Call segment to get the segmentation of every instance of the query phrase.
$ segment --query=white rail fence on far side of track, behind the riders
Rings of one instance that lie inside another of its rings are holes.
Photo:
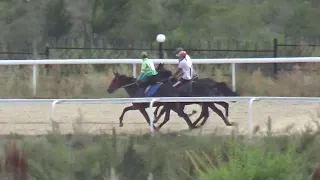
[[[154,63],[177,64],[176,59],[153,59]],[[236,90],[236,64],[244,63],[298,63],[320,62],[320,57],[281,57],[281,58],[222,58],[222,59],[193,59],[194,64],[231,64],[232,88]],[[33,95],[37,94],[37,65],[43,64],[132,64],[133,76],[136,75],[136,65],[140,59],[40,59],[40,60],[3,60],[0,65],[33,65],[32,88]]]

